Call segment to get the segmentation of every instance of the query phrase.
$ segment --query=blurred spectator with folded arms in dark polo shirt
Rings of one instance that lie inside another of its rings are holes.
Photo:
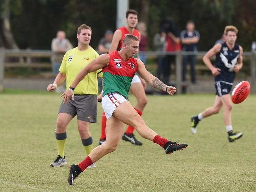
[[[197,53],[197,43],[200,39],[200,34],[195,30],[195,23],[192,20],[187,22],[186,30],[180,34],[182,42],[182,51]],[[186,82],[187,63],[191,66],[191,82],[196,83],[195,64],[197,55],[183,55],[182,81]]]

